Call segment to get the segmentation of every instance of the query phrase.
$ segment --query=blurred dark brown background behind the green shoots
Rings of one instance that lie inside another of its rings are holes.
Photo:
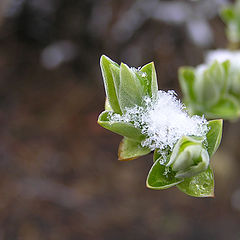
[[[161,89],[227,45],[224,0],[0,0],[0,240],[240,239],[240,122],[224,125],[216,196],[145,187],[96,124],[99,58],[154,61]]]

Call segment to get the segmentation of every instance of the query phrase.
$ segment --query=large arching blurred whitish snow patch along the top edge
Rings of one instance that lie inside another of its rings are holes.
[[[192,42],[197,46],[207,47],[213,42],[213,34],[206,19],[217,16],[219,8],[228,2],[227,0],[136,1],[115,23],[112,35],[118,42],[128,41],[146,20],[154,19],[169,24],[184,24]]]

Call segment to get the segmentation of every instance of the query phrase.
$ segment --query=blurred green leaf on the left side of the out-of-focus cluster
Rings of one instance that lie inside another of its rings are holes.
[[[192,67],[181,67],[178,71],[178,77],[184,97],[187,101],[196,101],[194,93],[195,73]]]

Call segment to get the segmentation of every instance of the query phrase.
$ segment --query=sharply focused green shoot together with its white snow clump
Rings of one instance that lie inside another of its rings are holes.
[[[154,151],[147,187],[177,186],[191,196],[213,196],[209,162],[220,144],[222,121],[191,116],[174,91],[159,91],[153,63],[130,68],[102,56],[100,65],[107,100],[98,123],[123,136],[119,160]]]

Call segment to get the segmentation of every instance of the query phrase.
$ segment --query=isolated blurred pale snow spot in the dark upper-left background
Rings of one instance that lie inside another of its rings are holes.
[[[58,41],[50,44],[41,53],[41,64],[47,69],[54,69],[64,62],[74,59],[77,46],[71,41]]]

